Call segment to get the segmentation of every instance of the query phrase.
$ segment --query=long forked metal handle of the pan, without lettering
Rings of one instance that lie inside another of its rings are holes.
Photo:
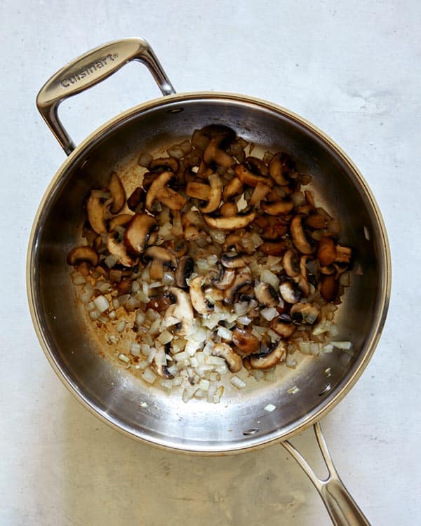
[[[326,467],[328,468],[328,477],[324,480],[316,476],[313,469],[302,454],[295,449],[295,447],[286,440],[282,443],[283,447],[290,453],[294,459],[300,464],[309,479],[319,492],[323,504],[330,515],[330,518],[335,526],[370,526],[370,522],[366,519],[361,509],[357,506],[354,499],[349,494],[347,488],[340,480],[338,472],[335,469],[332,458],[326,445],[321,426],[319,422],[314,424],[314,433],[319,445],[319,449]]]

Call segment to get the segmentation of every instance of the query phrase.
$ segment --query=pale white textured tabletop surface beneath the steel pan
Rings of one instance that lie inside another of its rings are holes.
[[[323,428],[373,525],[420,524],[420,4],[17,0],[0,2],[0,25],[1,526],[329,523],[283,448],[196,458],[139,445],[76,403],[41,352],[25,257],[64,155],[36,93],[74,56],[125,36],[152,43],[178,90],[247,93],[305,116],[366,176],[389,231],[392,302],[373,360]],[[63,104],[62,119],[78,142],[157,94],[129,65]],[[298,440],[314,457],[312,434]]]

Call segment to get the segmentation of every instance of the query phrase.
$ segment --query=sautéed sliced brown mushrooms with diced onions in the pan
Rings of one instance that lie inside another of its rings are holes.
[[[115,356],[185,401],[218,403],[230,373],[236,389],[274,379],[295,351],[350,348],[331,341],[352,256],[338,222],[288,154],[252,150],[210,125],[166,157],[140,154],[131,195],[116,173],[91,190],[86,245],[67,256]]]

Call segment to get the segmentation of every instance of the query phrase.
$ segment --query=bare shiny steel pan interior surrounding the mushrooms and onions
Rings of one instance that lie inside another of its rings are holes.
[[[253,154],[287,151],[320,203],[341,224],[341,242],[356,257],[343,297],[335,339],[354,353],[306,357],[298,367],[277,367],[275,382],[227,384],[219,404],[151,387],[101,356],[103,335],[88,328],[66,264],[81,242],[83,201],[105,186],[112,170],[133,184],[140,151],[182,142],[206,124],[221,123],[255,144]],[[29,289],[35,325],[55,370],[97,414],[134,438],[198,452],[243,450],[286,438],[333,407],[368,362],[384,321],[388,295],[387,245],[377,207],[347,158],[326,137],[286,110],[227,95],[185,95],[142,105],[95,132],[55,176],[34,225]],[[288,390],[300,389],[295,394]],[[267,412],[268,404],[276,406]]]

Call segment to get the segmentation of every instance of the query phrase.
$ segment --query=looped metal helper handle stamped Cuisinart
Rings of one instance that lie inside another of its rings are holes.
[[[67,155],[75,145],[58,118],[60,102],[95,86],[132,60],[149,69],[163,95],[175,93],[149,43],[142,39],[116,40],[92,49],[62,67],[41,88],[36,106]]]

